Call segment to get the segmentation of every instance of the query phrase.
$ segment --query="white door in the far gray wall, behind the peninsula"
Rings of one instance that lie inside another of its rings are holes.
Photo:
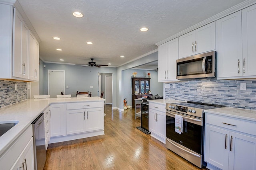
[[[56,98],[56,95],[65,94],[65,71],[64,70],[48,70],[48,95]]]

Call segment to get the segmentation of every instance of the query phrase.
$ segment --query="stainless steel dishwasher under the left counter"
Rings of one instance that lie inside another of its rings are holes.
[[[35,170],[43,170],[46,161],[44,113],[41,113],[33,122],[34,164]]]

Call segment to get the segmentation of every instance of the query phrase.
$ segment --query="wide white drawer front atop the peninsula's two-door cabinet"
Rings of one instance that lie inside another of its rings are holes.
[[[70,109],[86,109],[93,107],[104,107],[104,102],[77,102],[66,104],[67,110]]]

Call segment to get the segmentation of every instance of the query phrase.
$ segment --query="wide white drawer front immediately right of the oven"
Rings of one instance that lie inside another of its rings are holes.
[[[205,113],[206,123],[232,129],[235,131],[256,135],[256,123],[234,117],[215,115],[212,113]]]

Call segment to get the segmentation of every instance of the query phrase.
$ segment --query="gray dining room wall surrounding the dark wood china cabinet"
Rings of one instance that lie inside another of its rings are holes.
[[[153,95],[159,94],[163,96],[163,83],[158,82],[158,72],[156,71],[147,71],[147,70],[138,70],[138,69],[127,69],[123,70],[123,77],[124,77],[124,98],[127,99],[127,104],[132,106],[132,73],[137,72],[136,77],[148,77],[148,72],[151,74],[150,79],[150,90]]]

